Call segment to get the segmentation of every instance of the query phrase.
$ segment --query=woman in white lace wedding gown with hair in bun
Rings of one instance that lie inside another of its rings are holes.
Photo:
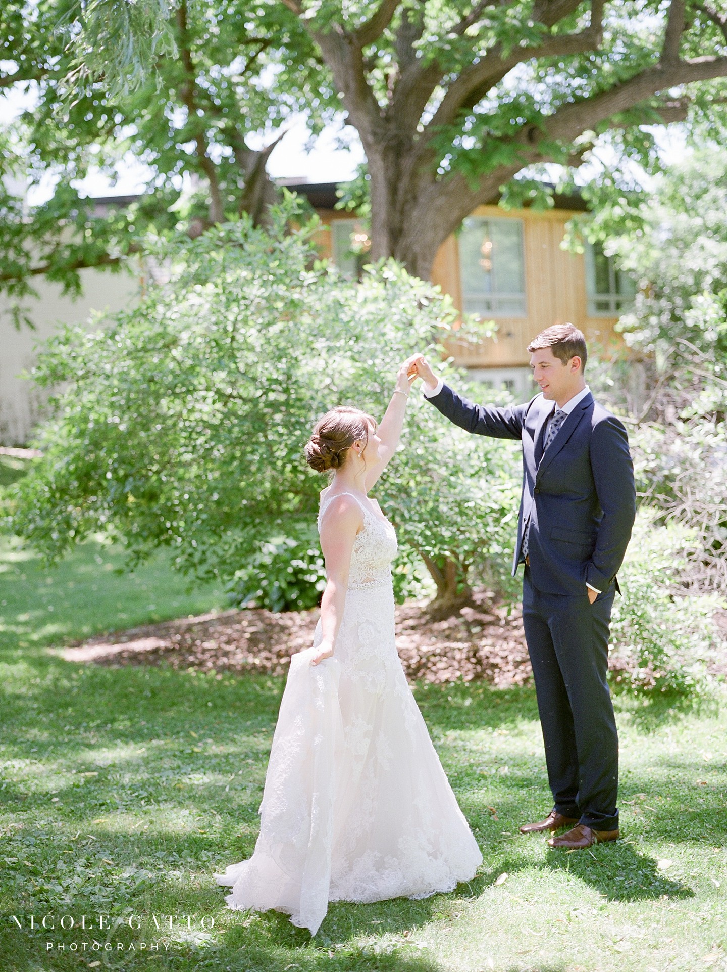
[[[416,377],[402,364],[377,427],[334,408],[306,445],[327,584],[312,647],[290,661],[248,860],[215,874],[237,910],[274,908],[314,935],[329,901],[423,898],[482,861],[394,643],[394,528],[368,493],[399,442]]]

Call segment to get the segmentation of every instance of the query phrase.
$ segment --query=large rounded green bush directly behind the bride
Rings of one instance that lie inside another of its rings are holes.
[[[244,597],[311,601],[318,569],[298,543],[324,485],[302,455],[315,419],[338,404],[380,417],[398,364],[438,357],[455,314],[391,261],[347,280],[316,259],[314,226],[289,231],[294,216],[288,201],[269,230],[243,219],[160,243],[167,279],[137,307],[50,341],[36,379],[66,391],[41,430],[43,459],[15,488],[17,534],[50,557],[97,531],[136,557],[165,545],[180,570]],[[419,394],[404,445],[377,488],[400,530],[397,583],[421,556],[440,573],[453,564],[464,587],[488,558],[507,559],[516,450],[454,430]]]

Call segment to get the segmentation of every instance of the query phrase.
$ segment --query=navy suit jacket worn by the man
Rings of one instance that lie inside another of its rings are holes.
[[[445,385],[429,401],[467,432],[522,442],[522,499],[512,574],[522,562],[522,530],[529,518],[530,573],[538,590],[583,595],[587,582],[607,591],[623,562],[636,516],[634,467],[623,424],[588,394],[544,454],[545,421],[555,403],[542,395],[496,408],[474,404]]]

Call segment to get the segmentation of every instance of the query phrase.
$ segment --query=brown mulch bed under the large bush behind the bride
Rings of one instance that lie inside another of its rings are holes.
[[[68,661],[99,665],[171,665],[204,672],[281,675],[290,655],[313,642],[318,611],[252,608],[149,624],[59,649]],[[532,671],[519,609],[479,600],[445,620],[425,604],[396,609],[396,644],[411,681],[522,685]]]

